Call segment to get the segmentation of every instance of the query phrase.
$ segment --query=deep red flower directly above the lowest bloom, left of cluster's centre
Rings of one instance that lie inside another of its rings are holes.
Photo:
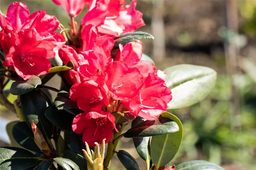
[[[108,105],[107,96],[93,80],[74,84],[70,89],[69,98],[85,112],[99,111],[103,104]]]

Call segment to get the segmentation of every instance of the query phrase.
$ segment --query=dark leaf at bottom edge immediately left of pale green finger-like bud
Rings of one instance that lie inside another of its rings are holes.
[[[87,170],[87,160],[85,157],[69,150],[65,150],[64,157],[75,162],[79,166],[80,170]]]

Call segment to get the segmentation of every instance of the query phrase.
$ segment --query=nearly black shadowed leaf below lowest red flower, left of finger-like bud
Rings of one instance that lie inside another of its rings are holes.
[[[83,155],[83,151],[82,149],[86,149],[85,148],[85,144],[82,141],[82,135],[81,134],[76,134],[73,133],[70,136],[70,150],[72,152],[78,153],[79,155]]]

